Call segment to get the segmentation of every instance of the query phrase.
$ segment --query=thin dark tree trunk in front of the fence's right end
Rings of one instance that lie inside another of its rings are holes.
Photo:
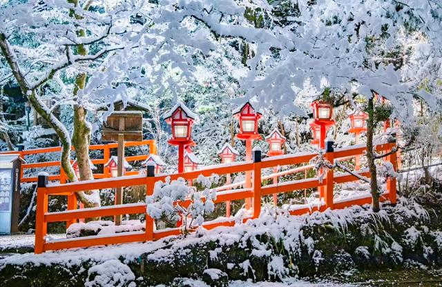
[[[367,161],[370,172],[370,191],[372,193],[372,209],[374,212],[380,210],[379,207],[379,193],[378,193],[378,181],[376,177],[376,164],[374,163],[374,152],[373,152],[373,135],[374,135],[374,96],[368,100],[367,106]]]

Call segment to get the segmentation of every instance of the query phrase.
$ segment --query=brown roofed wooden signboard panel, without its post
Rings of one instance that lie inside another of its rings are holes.
[[[102,141],[118,141],[118,135],[124,135],[124,141],[143,140],[143,114],[140,111],[119,111],[108,116],[103,125]]]

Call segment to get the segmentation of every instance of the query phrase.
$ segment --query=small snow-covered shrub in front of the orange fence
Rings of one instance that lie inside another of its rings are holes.
[[[205,179],[200,179],[200,182],[207,184]],[[153,195],[146,197],[146,212],[153,219],[173,222],[183,219],[182,226],[186,230],[204,222],[204,215],[215,209],[215,199],[215,190],[204,188],[198,192],[195,188],[187,186],[182,177],[173,181],[166,177],[165,182],[157,181]]]

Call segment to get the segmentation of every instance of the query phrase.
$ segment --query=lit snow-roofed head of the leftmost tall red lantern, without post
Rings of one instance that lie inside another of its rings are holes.
[[[192,125],[198,123],[198,116],[191,112],[184,103],[178,101],[163,117],[164,121],[172,126],[172,139],[169,143],[191,141]]]

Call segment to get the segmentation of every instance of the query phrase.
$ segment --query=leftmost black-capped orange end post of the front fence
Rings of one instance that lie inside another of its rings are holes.
[[[36,254],[44,251],[44,237],[48,233],[48,224],[44,220],[44,215],[48,212],[48,195],[46,195],[46,186],[49,177],[47,175],[39,175],[37,181],[37,210],[35,212],[35,247]]]

